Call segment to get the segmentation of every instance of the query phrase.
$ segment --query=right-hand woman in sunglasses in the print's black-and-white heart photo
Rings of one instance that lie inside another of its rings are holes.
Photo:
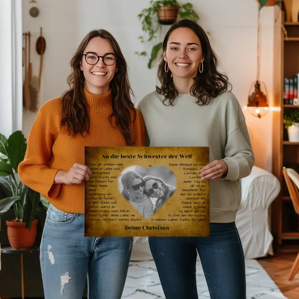
[[[154,176],[145,176],[144,192],[150,197],[157,198],[155,204],[155,212],[159,210],[161,206],[171,197],[175,191],[175,188],[166,184],[160,178]]]

